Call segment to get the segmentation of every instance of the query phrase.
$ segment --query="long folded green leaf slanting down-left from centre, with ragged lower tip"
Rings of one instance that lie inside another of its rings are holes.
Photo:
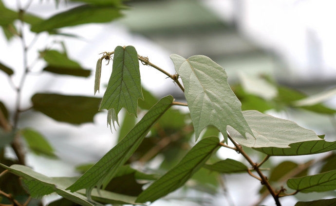
[[[68,189],[71,191],[87,189],[87,196],[90,197],[90,192],[95,186],[98,189],[102,185],[105,187],[118,169],[138,148],[153,124],[168,110],[172,101],[173,97],[167,96],[156,103],[112,150],[105,154]]]

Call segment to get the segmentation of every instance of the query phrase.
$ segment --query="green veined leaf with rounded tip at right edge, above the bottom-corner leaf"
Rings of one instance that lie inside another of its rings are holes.
[[[287,186],[299,192],[323,192],[336,189],[336,170],[320,174],[292,178]]]

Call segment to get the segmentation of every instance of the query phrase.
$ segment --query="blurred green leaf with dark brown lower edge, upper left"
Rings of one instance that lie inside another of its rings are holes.
[[[65,52],[56,50],[41,51],[40,55],[48,63],[43,69],[56,74],[66,74],[73,76],[88,77],[91,70],[83,69],[77,62],[69,59]]]

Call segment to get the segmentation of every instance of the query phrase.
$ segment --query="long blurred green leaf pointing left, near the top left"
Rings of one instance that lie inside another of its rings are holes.
[[[118,6],[85,4],[58,13],[37,24],[32,24],[31,31],[40,33],[80,24],[103,23],[112,21],[118,17],[121,17]]]

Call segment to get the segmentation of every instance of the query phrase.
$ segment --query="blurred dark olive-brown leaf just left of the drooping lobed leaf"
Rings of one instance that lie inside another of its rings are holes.
[[[38,93],[32,97],[33,108],[57,121],[73,124],[93,122],[100,98]]]

